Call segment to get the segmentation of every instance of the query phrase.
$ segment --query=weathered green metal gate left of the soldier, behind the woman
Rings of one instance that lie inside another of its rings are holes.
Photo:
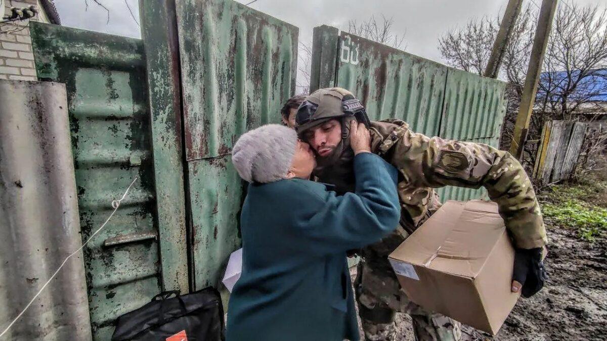
[[[231,0],[140,10],[143,41],[31,24],[38,78],[66,84],[83,241],[139,178],[84,249],[95,340],[161,290],[222,288],[244,191],[232,144],[295,89],[297,27]]]

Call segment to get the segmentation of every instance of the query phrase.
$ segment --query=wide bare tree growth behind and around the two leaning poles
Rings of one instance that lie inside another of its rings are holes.
[[[508,82],[508,106],[502,131],[502,149],[512,141],[512,128],[523,93],[537,21],[531,4],[521,12],[504,53],[500,78]],[[473,18],[463,27],[450,30],[438,41],[441,55],[451,66],[482,74],[500,26],[498,18]],[[595,98],[607,92],[607,15],[596,6],[561,2],[552,24],[544,55],[529,140],[524,158],[532,164],[533,141],[540,138],[545,120],[592,120],[586,112],[597,110]],[[604,104],[602,104],[604,106]],[[602,108],[605,111],[605,107]]]

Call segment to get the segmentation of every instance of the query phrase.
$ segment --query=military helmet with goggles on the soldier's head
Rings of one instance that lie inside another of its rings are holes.
[[[370,124],[365,107],[353,93],[341,87],[316,90],[307,96],[297,109],[297,133],[301,135],[305,130],[325,121],[342,117],[356,118],[367,127]]]

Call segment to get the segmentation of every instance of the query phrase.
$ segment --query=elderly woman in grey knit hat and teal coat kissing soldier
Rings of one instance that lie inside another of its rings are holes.
[[[228,341],[359,340],[346,251],[398,225],[396,169],[350,127],[356,192],[308,180],[316,164],[296,132],[269,124],[245,133],[232,161],[251,183],[242,208],[243,267],[228,309]]]

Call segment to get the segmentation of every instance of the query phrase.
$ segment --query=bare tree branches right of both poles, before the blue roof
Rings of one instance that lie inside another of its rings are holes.
[[[573,120],[597,109],[592,98],[607,92],[607,12],[576,4],[558,11],[538,86],[541,110]],[[588,107],[588,105],[592,107]]]

